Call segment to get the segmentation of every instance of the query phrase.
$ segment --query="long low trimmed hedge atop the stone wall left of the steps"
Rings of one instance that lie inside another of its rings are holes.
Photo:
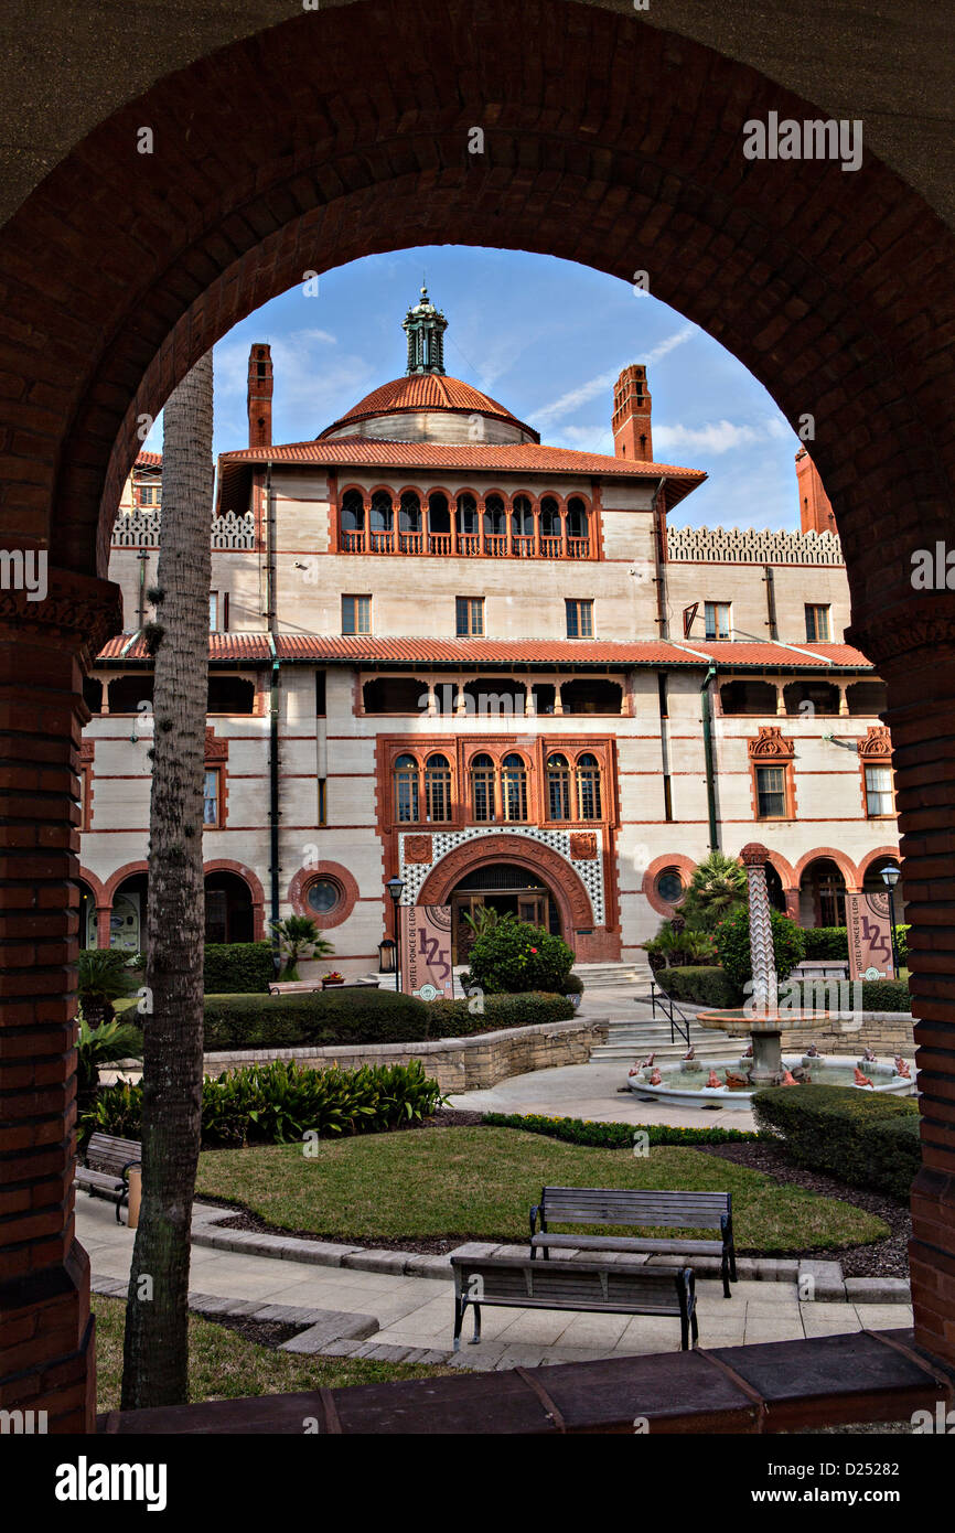
[[[472,996],[471,1001],[422,1001],[417,995],[372,986],[297,995],[207,995],[205,1049],[423,1042],[498,1027],[558,1023],[575,1015],[563,995],[537,992]]]

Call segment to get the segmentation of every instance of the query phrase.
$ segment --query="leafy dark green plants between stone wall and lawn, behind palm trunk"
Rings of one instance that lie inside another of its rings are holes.
[[[302,1070],[276,1061],[202,1082],[202,1145],[287,1144],[307,1133],[382,1133],[420,1122],[443,1101],[420,1059],[360,1070]],[[110,1085],[83,1121],[90,1133],[138,1139],[143,1087]]]

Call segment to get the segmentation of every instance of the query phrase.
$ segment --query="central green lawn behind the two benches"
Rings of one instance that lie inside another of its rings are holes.
[[[317,1148],[314,1159],[300,1144],[205,1151],[196,1193],[241,1202],[287,1229],[395,1246],[426,1236],[526,1240],[527,1210],[544,1183],[731,1191],[739,1249],[863,1245],[889,1233],[852,1203],[682,1147],[638,1159],[628,1148],[475,1127],[323,1139]]]

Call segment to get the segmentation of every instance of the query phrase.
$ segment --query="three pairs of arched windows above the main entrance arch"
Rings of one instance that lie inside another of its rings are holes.
[[[468,770],[471,819],[478,823],[526,822],[527,762],[510,751],[500,765],[487,751],[471,757]],[[399,825],[440,825],[452,819],[451,762],[440,751],[420,760],[411,753],[394,762],[394,817]],[[544,771],[544,814],[549,820],[599,820],[601,766],[592,751],[570,763],[553,751]]]

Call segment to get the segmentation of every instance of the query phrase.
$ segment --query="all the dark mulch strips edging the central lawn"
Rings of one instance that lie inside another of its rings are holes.
[[[477,1125],[481,1122],[481,1113],[440,1108],[434,1118],[428,1118],[420,1124],[408,1124],[408,1127],[460,1128]],[[802,1167],[793,1165],[779,1145],[766,1144],[763,1141],[730,1145],[694,1145],[693,1148],[702,1150],[704,1154],[720,1156],[724,1160],[736,1160],[737,1165],[750,1167],[753,1171],[763,1171],[777,1182],[789,1182],[793,1187],[805,1187],[806,1191],[817,1193],[820,1197],[838,1197],[846,1203],[854,1203],[857,1208],[865,1208],[866,1213],[883,1219],[892,1231],[892,1234],[884,1240],[877,1240],[872,1245],[842,1246],[835,1249],[825,1246],[802,1246],[786,1251],[773,1251],[771,1254],[774,1257],[812,1257],[817,1262],[842,1262],[845,1277],[909,1277],[912,1216],[907,1203],[900,1203],[894,1197],[886,1197],[884,1193],[869,1193],[860,1187],[848,1187],[845,1182],[837,1180],[837,1177],[826,1176],[822,1171],[806,1171]],[[219,1208],[236,1208],[235,1202],[224,1197],[207,1197],[202,1194],[201,1202],[215,1203]],[[514,1243],[512,1236],[504,1234],[461,1234],[443,1239],[428,1236],[418,1240],[405,1236],[400,1239],[392,1236],[385,1240],[372,1236],[363,1236],[360,1240],[353,1242],[342,1240],[339,1234],[317,1234],[314,1229],[290,1229],[287,1226],[281,1228],[279,1225],[270,1225],[267,1219],[261,1219],[259,1214],[253,1214],[247,1208],[241,1208],[231,1219],[222,1220],[222,1223],[216,1228],[250,1229],[256,1234],[270,1236],[294,1236],[299,1240],[322,1240],[331,1245],[360,1245],[369,1251],[412,1251],[418,1256],[443,1256],[446,1251],[454,1251],[455,1246],[463,1245],[464,1240],[497,1242],[500,1245]],[[765,1251],[753,1251],[743,1246],[739,1248],[737,1254],[766,1256]]]

